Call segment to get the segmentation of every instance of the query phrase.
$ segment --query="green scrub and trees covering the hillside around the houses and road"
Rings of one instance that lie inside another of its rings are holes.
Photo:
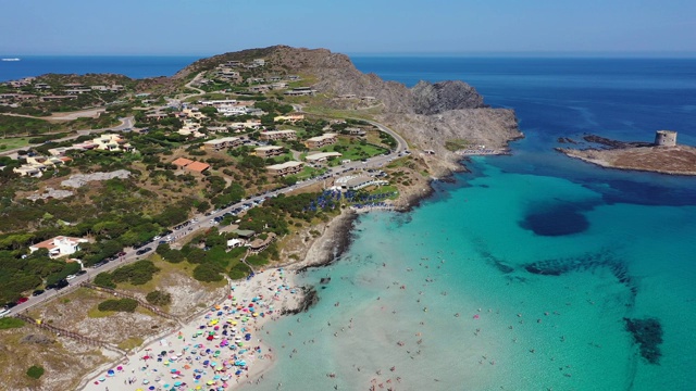
[[[249,52],[248,60],[263,58],[263,52]],[[229,60],[237,59],[231,56]],[[203,70],[212,71],[216,64],[201,61],[195,73],[187,76],[187,80]],[[198,66],[196,65],[196,66]],[[204,65],[204,66],[203,66]],[[268,77],[273,74],[284,75],[285,71],[273,67],[238,68],[240,77]],[[328,162],[337,165],[340,160],[362,160],[387,151],[396,144],[390,136],[375,131],[374,126],[362,119],[370,118],[380,112],[380,108],[363,111],[336,111],[322,106],[326,96],[315,97],[284,97],[282,90],[269,93],[249,93],[246,83],[222,80],[212,73],[203,75],[213,83],[202,86],[204,96],[191,97],[190,100],[201,99],[237,99],[251,101],[254,108],[263,110],[266,115],[261,119],[266,129],[295,129],[298,140],[272,141],[271,144],[283,146],[287,150],[282,156],[261,159],[253,154],[252,147],[231,148],[227,151],[202,150],[201,139],[192,136],[179,135],[184,126],[181,115],[173,115],[176,110],[156,110],[147,108],[142,97],[134,99],[130,92],[142,91],[146,88],[140,81],[113,76],[58,76],[41,77],[40,83],[47,83],[49,91],[34,90],[30,86],[25,92],[44,96],[58,93],[64,89],[66,83],[82,83],[88,85],[120,84],[125,86],[125,92],[90,91],[78,96],[74,100],[38,102],[32,101],[22,108],[14,108],[15,113],[28,115],[49,115],[52,112],[66,112],[95,106],[108,108],[98,118],[79,118],[76,121],[48,122],[40,117],[20,117],[0,115],[0,149],[23,148],[37,144],[20,152],[28,156],[32,153],[47,155],[51,148],[70,147],[75,142],[89,141],[95,136],[79,136],[69,141],[57,141],[69,136],[65,130],[103,128],[116,123],[120,116],[133,115],[136,127],[147,127],[147,133],[123,133],[122,138],[135,148],[135,152],[109,152],[98,150],[70,150],[66,155],[72,161],[54,171],[47,171],[41,178],[18,177],[12,168],[21,163],[8,157],[0,157],[0,304],[16,301],[21,294],[47,283],[55,282],[69,274],[76,272],[76,264],[64,261],[50,260],[45,251],[28,254],[27,248],[39,241],[63,235],[70,237],[89,238],[89,243],[83,243],[80,251],[73,257],[80,258],[90,266],[105,258],[117,256],[124,248],[145,244],[191,217],[192,213],[204,213],[215,207],[223,207],[236,203],[251,194],[259,194],[281,186],[293,185],[326,172],[325,167],[307,166],[297,175],[276,178],[266,173],[266,166],[294,159],[297,152],[307,152],[303,144],[306,138],[322,135],[330,126],[330,118],[345,117],[345,124],[332,124],[333,131],[341,133],[339,141],[321,151],[336,151],[343,157]],[[301,81],[293,81],[289,88],[310,86],[315,79],[310,75],[302,75]],[[107,79],[109,80],[107,83]],[[146,83],[146,81],[142,81]],[[163,97],[186,90],[178,86],[158,86],[152,80],[147,81],[148,92],[158,90],[148,101],[164,103]],[[51,90],[55,90],[52,91]],[[127,93],[126,93],[127,92]],[[274,123],[274,116],[293,112],[290,103],[307,104],[308,112],[320,115],[307,115],[306,119],[297,123]],[[109,103],[109,104],[107,104]],[[134,109],[137,108],[137,109]],[[7,112],[4,108],[0,113]],[[192,119],[200,125],[201,131],[207,133],[212,127],[229,126],[231,122],[256,119],[251,115],[224,117],[214,108],[200,108],[207,118]],[[149,115],[158,113],[158,115]],[[169,115],[167,114],[172,114]],[[360,127],[368,131],[364,139],[347,135],[347,127]],[[259,130],[243,130],[250,139],[258,140]],[[11,137],[14,135],[28,135]],[[239,136],[237,133],[210,134],[211,137]],[[386,147],[386,148],[385,148]],[[316,152],[316,151],[312,151]],[[186,157],[210,164],[211,169],[204,174],[182,169],[172,164],[177,157]],[[29,201],[27,194],[41,193],[47,186],[55,186],[57,178],[72,173],[96,173],[126,169],[132,175],[127,179],[111,179],[89,182],[88,186],[74,190],[74,194],[62,200],[48,199]],[[270,199],[262,207],[247,211],[239,223],[240,229],[251,229],[258,234],[257,238],[264,239],[268,234],[284,236],[291,234],[295,227],[311,224],[318,219],[326,220],[333,213],[337,213],[339,205],[328,203],[318,209],[314,201],[318,194],[299,194]],[[237,216],[227,216],[222,225],[231,224]],[[182,250],[159,245],[157,253],[171,264],[181,264],[183,269],[207,282],[220,282],[224,276],[244,278],[251,268],[249,265],[262,266],[279,258],[277,243],[272,242],[259,254],[252,254],[241,262],[246,249],[228,251],[226,240],[235,238],[234,234],[220,235],[216,229],[210,229],[199,236]],[[190,267],[189,267],[190,264]],[[173,265],[166,265],[173,266]],[[101,273],[95,278],[95,285],[115,288],[121,285],[139,286],[145,293],[149,292],[150,302],[167,305],[166,293],[152,291],[154,283],[147,283],[153,278],[158,268],[149,261],[139,261],[123,266],[112,273]],[[214,285],[214,283],[213,283]],[[112,311],[112,310],[108,310]],[[103,315],[103,312],[92,311]]]

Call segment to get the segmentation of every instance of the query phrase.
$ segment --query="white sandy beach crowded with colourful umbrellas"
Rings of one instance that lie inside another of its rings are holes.
[[[234,282],[223,302],[110,369],[90,374],[84,390],[229,390],[251,381],[274,360],[263,344],[263,324],[301,301],[293,273],[275,268]]]

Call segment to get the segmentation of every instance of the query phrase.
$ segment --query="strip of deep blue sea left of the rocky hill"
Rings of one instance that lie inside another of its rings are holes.
[[[15,58],[0,55],[0,58]],[[191,55],[24,55],[21,61],[0,61],[0,81],[47,73],[113,73],[130,78],[172,76],[201,56]]]

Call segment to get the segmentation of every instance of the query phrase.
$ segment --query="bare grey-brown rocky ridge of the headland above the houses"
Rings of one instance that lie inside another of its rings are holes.
[[[186,78],[225,61],[256,58],[265,59],[271,73],[311,75],[316,80],[314,89],[333,109],[349,108],[349,101],[335,99],[341,94],[375,98],[373,105],[380,114],[374,119],[400,133],[412,147],[435,152],[425,156],[434,175],[461,168],[457,164],[461,156],[445,148],[447,141],[505,149],[510,140],[522,137],[512,110],[490,109],[463,81],[421,81],[409,89],[375,74],[364,74],[347,55],[326,49],[276,46],[226,53],[197,61],[174,77]]]

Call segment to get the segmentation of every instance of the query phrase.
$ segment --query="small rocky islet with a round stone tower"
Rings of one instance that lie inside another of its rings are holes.
[[[602,167],[634,169],[671,175],[696,175],[696,148],[676,143],[676,131],[658,130],[655,142],[624,142],[587,135],[587,142],[601,148],[556,150],[570,157]],[[561,139],[561,142],[573,142]]]

